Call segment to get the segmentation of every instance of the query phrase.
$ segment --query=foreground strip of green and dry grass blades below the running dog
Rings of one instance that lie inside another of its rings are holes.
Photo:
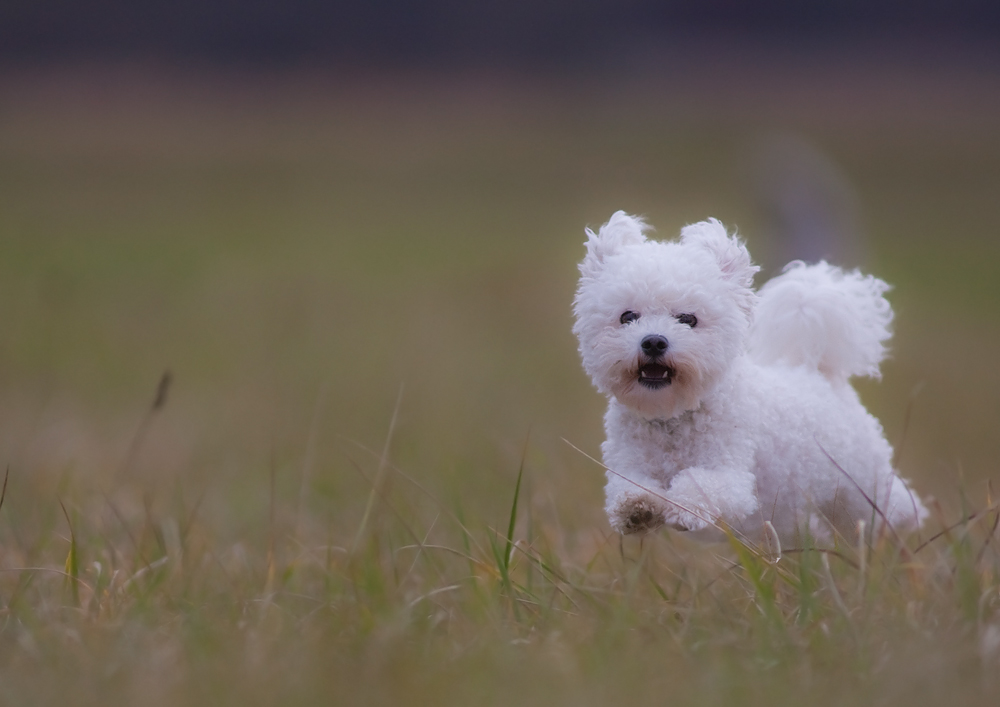
[[[521,497],[521,474],[495,527],[359,452],[375,501],[353,540],[273,495],[265,536],[232,545],[180,496],[134,518],[116,494],[78,493],[76,513],[33,509],[35,524],[5,544],[5,701],[988,704],[995,694],[995,504],[908,549],[842,539],[778,555],[735,539],[728,549],[667,534],[622,541],[600,527],[567,537],[549,508]]]

